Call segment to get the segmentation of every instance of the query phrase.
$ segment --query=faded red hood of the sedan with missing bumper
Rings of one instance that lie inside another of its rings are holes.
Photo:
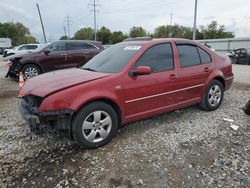
[[[80,68],[58,70],[26,80],[22,87],[22,93],[24,95],[46,97],[63,89],[109,75],[108,73],[87,71]]]

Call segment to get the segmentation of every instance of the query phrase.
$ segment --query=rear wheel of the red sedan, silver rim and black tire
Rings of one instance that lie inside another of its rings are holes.
[[[216,92],[217,89],[218,92]],[[210,91],[212,92],[212,94],[214,94],[214,96],[210,94]],[[218,98],[219,92],[220,92],[220,99]],[[221,105],[223,97],[224,97],[224,88],[222,83],[218,80],[212,80],[209,83],[205,93],[203,94],[202,102],[199,104],[199,106],[206,111],[216,110]]]

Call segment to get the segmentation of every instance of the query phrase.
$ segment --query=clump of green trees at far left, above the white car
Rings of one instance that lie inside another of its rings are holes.
[[[30,35],[29,28],[20,22],[0,23],[0,38],[10,38],[13,46],[36,43],[36,38]]]

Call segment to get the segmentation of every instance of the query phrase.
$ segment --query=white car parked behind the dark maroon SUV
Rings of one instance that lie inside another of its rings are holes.
[[[7,57],[10,55],[14,55],[14,54],[24,54],[24,53],[33,52],[39,46],[41,46],[41,44],[22,44],[12,49],[4,50],[3,57]]]

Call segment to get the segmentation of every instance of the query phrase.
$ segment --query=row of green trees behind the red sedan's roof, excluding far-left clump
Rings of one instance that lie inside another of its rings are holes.
[[[152,37],[152,38],[186,38],[192,39],[193,29],[191,27],[185,27],[182,25],[175,24],[162,25],[154,29],[154,33],[147,32],[140,26],[133,26],[129,33],[123,33],[122,31],[114,31],[105,26],[101,27],[97,32],[97,40],[103,44],[115,44],[123,41],[126,38],[134,37]],[[200,26],[196,31],[196,39],[218,39],[218,38],[233,38],[234,33],[226,31],[224,25],[219,25],[217,21],[212,21],[207,26]],[[68,39],[67,36],[62,36],[61,40]],[[93,40],[94,29],[91,27],[84,27],[78,30],[72,39],[78,40]]]

